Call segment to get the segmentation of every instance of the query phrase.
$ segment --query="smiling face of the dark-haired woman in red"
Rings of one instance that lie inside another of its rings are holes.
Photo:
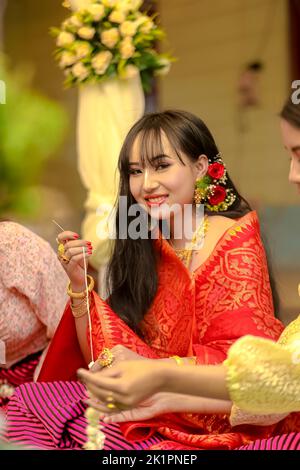
[[[154,218],[165,219],[175,204],[183,208],[193,203],[195,182],[206,174],[208,160],[201,155],[192,161],[176,151],[163,132],[160,140],[152,143],[152,155],[142,158],[143,145],[137,136],[129,158],[129,185],[138,204]]]

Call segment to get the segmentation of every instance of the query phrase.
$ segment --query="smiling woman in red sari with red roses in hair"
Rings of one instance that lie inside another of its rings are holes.
[[[82,446],[85,388],[65,381],[74,380],[76,370],[87,367],[93,357],[100,356],[103,364],[103,348],[114,348],[112,366],[132,359],[174,362],[179,358],[186,363],[217,364],[241,336],[277,339],[282,331],[273,314],[256,213],[237,192],[200,119],[176,111],[144,116],[125,139],[119,170],[119,195],[127,198],[129,208],[138,203],[146,214],[151,212],[161,231],[148,232],[146,224],[146,234],[156,233],[158,238],[128,236],[134,222],[129,216],[124,237],[119,232],[124,214],[118,205],[117,236],[108,269],[110,296],[105,302],[92,292],[85,303],[87,244],[73,232],[59,235],[71,304],[39,376],[40,382],[48,383],[21,386],[11,400],[8,417],[13,441],[44,448]],[[193,250],[186,250],[188,238],[176,237],[181,219],[175,214],[168,219],[169,209],[192,206],[195,227],[195,203],[205,206],[205,218],[195,231],[202,239],[205,236],[204,244],[201,249],[193,245]],[[164,221],[169,239],[163,236]],[[206,449],[234,448],[255,435],[269,435],[269,428],[233,431],[223,405],[216,403],[214,409],[222,414],[166,414],[125,423],[118,436],[117,428],[113,429],[114,441],[108,426],[106,448],[151,448],[153,439]]]

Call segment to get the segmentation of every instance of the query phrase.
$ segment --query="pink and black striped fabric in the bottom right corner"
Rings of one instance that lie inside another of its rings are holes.
[[[300,433],[291,432],[269,439],[259,439],[238,450],[300,450]]]

